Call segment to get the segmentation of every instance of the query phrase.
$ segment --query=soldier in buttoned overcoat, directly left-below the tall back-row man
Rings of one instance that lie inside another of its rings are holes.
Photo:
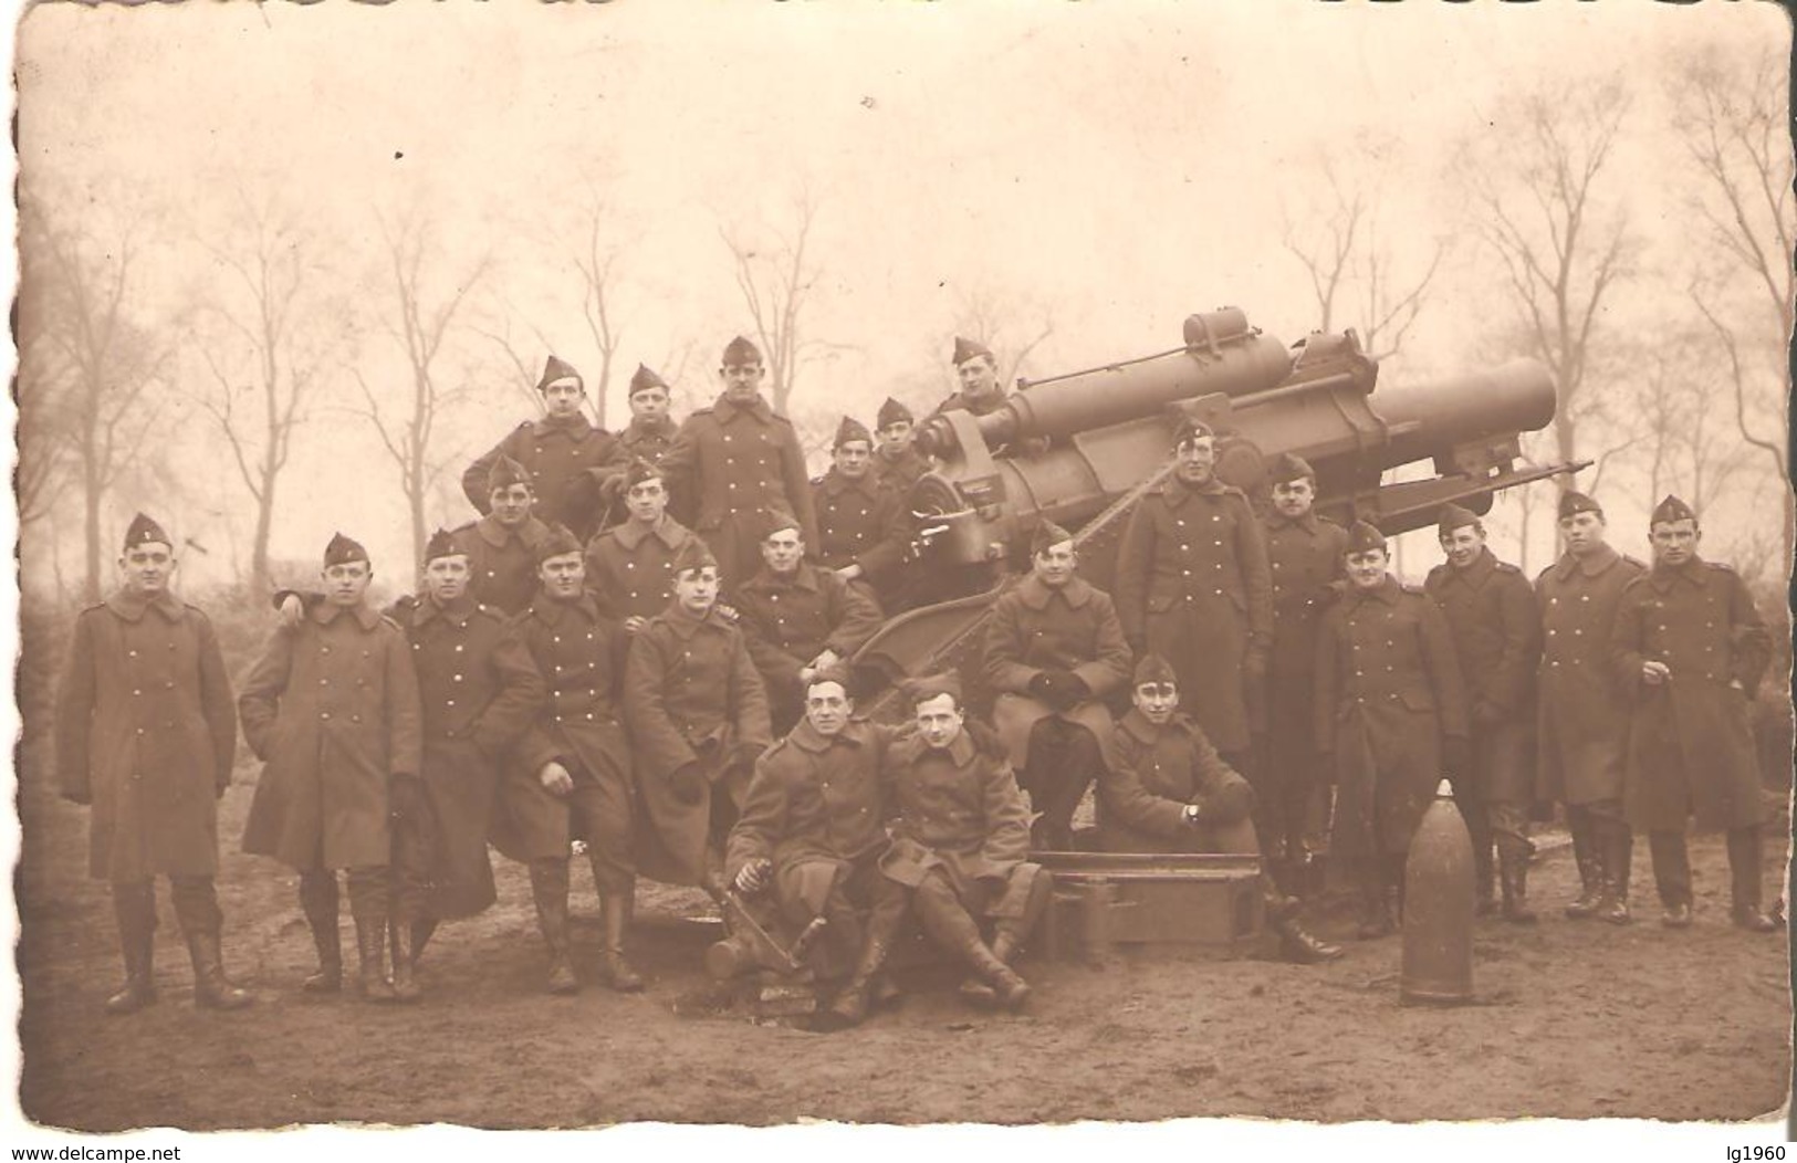
[[[634,635],[674,600],[674,557],[694,534],[668,516],[661,469],[647,460],[631,464],[620,500],[624,521],[586,543],[586,590]]]

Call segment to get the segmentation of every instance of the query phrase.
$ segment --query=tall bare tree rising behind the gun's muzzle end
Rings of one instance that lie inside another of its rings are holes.
[[[1504,271],[1529,354],[1554,379],[1562,462],[1578,457],[1580,426],[1598,413],[1589,385],[1599,320],[1633,255],[1626,216],[1605,198],[1626,113],[1619,77],[1544,84],[1481,126],[1461,156],[1477,230]]]

